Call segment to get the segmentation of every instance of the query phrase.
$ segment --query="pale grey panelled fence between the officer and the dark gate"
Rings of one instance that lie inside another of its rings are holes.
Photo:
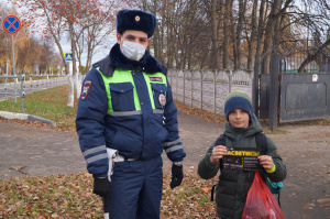
[[[231,90],[252,97],[252,76],[245,70],[168,70],[175,100],[217,114],[224,114],[224,98]]]

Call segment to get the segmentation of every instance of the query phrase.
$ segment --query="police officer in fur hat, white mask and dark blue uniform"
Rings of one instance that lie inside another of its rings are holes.
[[[160,218],[163,150],[173,162],[170,187],[183,180],[186,154],[166,68],[146,51],[156,23],[145,11],[119,11],[118,43],[82,83],[79,144],[94,193],[109,199],[111,219]]]

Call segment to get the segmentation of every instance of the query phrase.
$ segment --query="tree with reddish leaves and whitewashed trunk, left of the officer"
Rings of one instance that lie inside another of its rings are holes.
[[[53,37],[61,54],[64,54],[61,40],[67,36],[73,53],[73,76],[76,74],[76,53],[77,39],[80,32],[77,32],[76,26],[91,25],[90,20],[102,20],[99,17],[103,15],[103,10],[111,11],[124,6],[127,1],[113,1],[116,4],[110,4],[111,1],[101,0],[13,0],[14,3],[24,9],[23,18],[33,28],[37,28],[44,33],[45,37]],[[84,29],[84,28],[82,28]],[[68,66],[64,56],[62,62],[65,66],[66,73],[69,73]],[[74,107],[74,81],[69,77],[69,95],[68,107]],[[78,84],[78,83],[77,83]],[[77,90],[77,92],[79,92]]]

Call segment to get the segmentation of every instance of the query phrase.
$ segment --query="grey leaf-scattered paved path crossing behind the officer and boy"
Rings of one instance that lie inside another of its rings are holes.
[[[207,147],[223,132],[223,124],[179,113],[179,131],[187,157],[185,171],[197,171]],[[330,218],[330,125],[280,125],[287,134],[272,134],[287,166],[280,196],[287,219]],[[78,138],[66,132],[0,122],[0,178],[68,174],[86,171]],[[164,157],[164,172],[170,163]]]

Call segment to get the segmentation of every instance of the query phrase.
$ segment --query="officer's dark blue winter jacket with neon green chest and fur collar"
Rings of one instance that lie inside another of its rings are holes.
[[[133,83],[123,78],[123,83],[105,85],[105,78],[111,81],[111,77],[121,78],[116,74],[123,73]],[[172,162],[186,156],[167,78],[164,77],[166,86],[151,83],[160,80],[153,77],[160,73],[166,76],[166,68],[147,51],[140,62],[130,61],[116,44],[110,55],[95,64],[86,76],[76,128],[87,169],[95,177],[107,176],[106,147],[118,150],[125,158],[150,160],[160,156],[163,150]],[[152,96],[147,87],[152,87]],[[133,97],[133,92],[138,95]]]

